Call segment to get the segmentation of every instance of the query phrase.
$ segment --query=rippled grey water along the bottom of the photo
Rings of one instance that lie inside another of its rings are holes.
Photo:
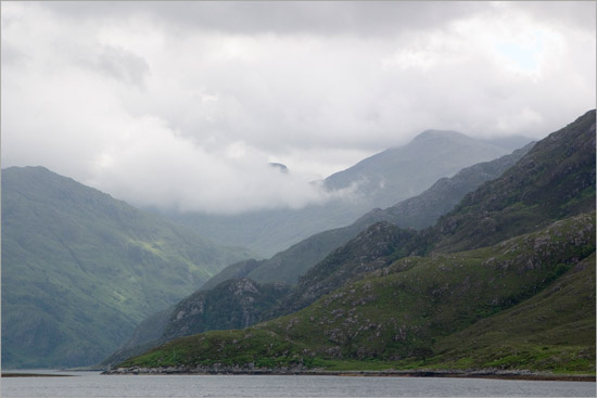
[[[595,397],[590,382],[270,375],[3,377],[2,397]]]

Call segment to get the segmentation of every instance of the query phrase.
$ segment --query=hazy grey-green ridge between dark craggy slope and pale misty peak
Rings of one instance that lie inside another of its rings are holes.
[[[386,209],[374,209],[348,227],[323,231],[303,240],[267,260],[234,264],[207,281],[203,288],[212,288],[230,278],[251,278],[258,282],[282,281],[294,284],[298,278],[321,261],[334,248],[354,239],[369,226],[388,221],[401,228],[421,229],[433,224],[440,216],[452,210],[469,192],[483,182],[493,180],[513,166],[533,146],[515,151],[495,161],[480,163],[458,171],[454,177],[436,181],[420,195],[410,197]]]

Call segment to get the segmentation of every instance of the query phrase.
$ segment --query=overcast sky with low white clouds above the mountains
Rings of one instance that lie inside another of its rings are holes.
[[[138,206],[300,208],[427,129],[558,130],[595,107],[596,57],[595,2],[3,1],[1,163]]]

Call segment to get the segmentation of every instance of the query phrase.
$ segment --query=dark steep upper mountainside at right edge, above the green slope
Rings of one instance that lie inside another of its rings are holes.
[[[482,247],[595,208],[595,110],[549,134],[423,234],[433,251]],[[420,248],[419,248],[420,252]]]

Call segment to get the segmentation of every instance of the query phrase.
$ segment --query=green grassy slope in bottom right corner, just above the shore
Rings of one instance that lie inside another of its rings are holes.
[[[595,253],[536,296],[439,341],[429,365],[595,369]]]

